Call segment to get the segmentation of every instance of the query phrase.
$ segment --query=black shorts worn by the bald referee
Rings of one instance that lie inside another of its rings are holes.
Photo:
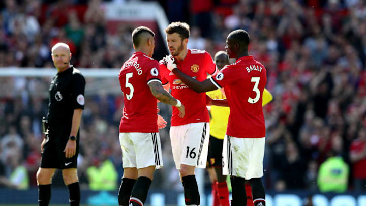
[[[70,129],[50,128],[48,136],[49,140],[43,147],[41,168],[76,168],[79,154],[79,133],[76,140],[76,153],[72,158],[66,158],[64,152],[69,140]]]

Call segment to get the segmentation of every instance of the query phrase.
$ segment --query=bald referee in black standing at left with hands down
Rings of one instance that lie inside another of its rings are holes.
[[[52,61],[57,69],[49,87],[47,114],[48,135],[41,144],[41,167],[37,171],[40,206],[51,199],[51,180],[56,169],[62,169],[65,185],[69,188],[70,205],[80,203],[77,176],[79,153],[79,126],[84,109],[85,79],[79,70],[70,65],[70,48],[65,43],[52,47]]]

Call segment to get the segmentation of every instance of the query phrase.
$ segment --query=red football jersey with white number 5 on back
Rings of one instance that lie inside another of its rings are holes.
[[[158,132],[157,99],[147,85],[152,81],[161,82],[158,61],[133,53],[119,71],[125,102],[119,132]]]

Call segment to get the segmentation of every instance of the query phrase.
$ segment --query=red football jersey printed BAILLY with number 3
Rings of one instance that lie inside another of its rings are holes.
[[[262,94],[267,71],[253,56],[243,56],[210,77],[219,89],[224,87],[230,106],[226,134],[239,138],[265,137]]]

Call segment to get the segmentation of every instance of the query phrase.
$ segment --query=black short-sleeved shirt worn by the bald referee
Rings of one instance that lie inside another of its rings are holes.
[[[73,66],[53,77],[48,90],[49,127],[71,129],[74,109],[84,109],[84,91],[85,79]]]

